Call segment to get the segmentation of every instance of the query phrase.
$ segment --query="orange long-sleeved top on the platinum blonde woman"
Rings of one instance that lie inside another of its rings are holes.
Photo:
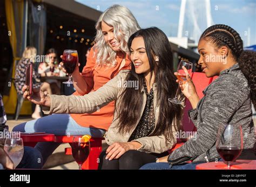
[[[97,52],[96,52],[97,53]],[[94,56],[94,49],[92,47],[89,56],[87,57],[87,62],[81,75],[84,77],[87,85],[89,86],[89,92],[96,91],[104,84],[109,82],[114,76],[116,76],[120,70],[123,69],[131,69],[131,61],[129,55],[126,54],[124,56],[122,53],[117,53],[116,66],[108,67],[108,66],[97,66],[96,59],[97,54]],[[125,60],[122,63],[122,61]],[[123,67],[120,67],[122,64]],[[97,67],[96,67],[97,66]],[[73,95],[78,95],[79,93],[76,91]],[[71,117],[83,127],[93,127],[93,128],[102,128],[107,130],[112,123],[114,114],[114,101],[102,107],[99,111],[88,114],[70,114]]]

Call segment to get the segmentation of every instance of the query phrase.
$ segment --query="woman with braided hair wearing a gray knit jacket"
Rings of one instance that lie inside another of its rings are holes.
[[[159,163],[145,164],[140,169],[195,169],[199,163],[219,160],[215,142],[221,124],[241,125],[244,147],[240,157],[248,156],[250,152],[245,150],[254,146],[255,52],[244,51],[240,35],[230,26],[221,24],[204,31],[198,42],[198,52],[198,62],[205,75],[219,77],[204,90],[201,100],[188,73],[187,82],[180,85],[193,107],[188,113],[197,127],[197,136],[169,156],[159,158]],[[187,72],[185,67],[184,71]],[[192,163],[187,163],[191,160]]]

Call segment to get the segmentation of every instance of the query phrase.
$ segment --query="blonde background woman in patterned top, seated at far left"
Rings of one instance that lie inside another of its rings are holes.
[[[26,65],[31,61],[35,63],[37,50],[35,47],[28,46],[25,48],[22,59],[19,60],[16,71],[15,71],[15,88],[18,95],[23,95],[22,87],[25,85],[26,81]],[[51,88],[49,83],[41,83],[39,74],[33,70],[33,88],[41,88],[42,91],[51,94]],[[32,118],[41,118],[39,105],[36,105],[35,111],[32,113]]]

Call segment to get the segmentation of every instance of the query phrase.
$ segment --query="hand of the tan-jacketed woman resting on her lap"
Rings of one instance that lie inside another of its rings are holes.
[[[114,142],[106,150],[106,159],[119,159],[119,157],[122,156],[128,150],[138,149],[138,143],[139,142]]]

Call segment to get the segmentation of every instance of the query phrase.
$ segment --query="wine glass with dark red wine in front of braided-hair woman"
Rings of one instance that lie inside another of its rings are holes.
[[[241,125],[220,125],[216,148],[220,157],[227,162],[227,168],[231,168],[231,162],[241,154],[243,147]]]

